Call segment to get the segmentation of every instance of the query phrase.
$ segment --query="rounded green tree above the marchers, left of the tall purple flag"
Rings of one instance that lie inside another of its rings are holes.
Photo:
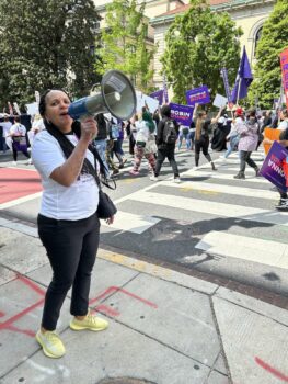
[[[232,86],[240,61],[241,35],[241,29],[228,13],[215,13],[204,1],[192,1],[191,9],[169,29],[161,59],[175,102],[185,103],[185,91],[201,84],[208,86],[212,97],[224,94],[220,69],[228,69]]]

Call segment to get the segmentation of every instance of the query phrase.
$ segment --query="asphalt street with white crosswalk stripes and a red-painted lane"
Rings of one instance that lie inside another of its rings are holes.
[[[101,247],[188,274],[287,295],[288,214],[275,211],[277,193],[266,180],[255,178],[253,170],[246,171],[246,180],[234,180],[235,153],[227,162],[218,159],[221,154],[211,155],[218,168],[215,172],[204,157],[199,169],[194,169],[194,153],[181,149],[176,154],[181,184],[173,182],[169,163],[159,182],[149,180],[146,161],[139,177],[130,176],[131,157],[127,156],[117,189],[107,191],[118,214],[113,227],[102,225]],[[253,158],[261,166],[262,153]],[[25,162],[10,168],[11,155],[0,156],[0,217],[35,226],[39,183],[33,166]]]

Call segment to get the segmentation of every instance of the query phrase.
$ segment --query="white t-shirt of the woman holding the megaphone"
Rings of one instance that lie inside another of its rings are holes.
[[[77,145],[77,136],[67,135],[67,138]],[[94,167],[93,154],[87,150],[85,157]],[[64,187],[50,179],[53,171],[66,161],[66,157],[58,140],[47,131],[42,131],[35,136],[32,159],[42,177],[44,189],[42,215],[56,219],[78,221],[96,212],[99,187],[92,174],[80,174],[70,187]]]

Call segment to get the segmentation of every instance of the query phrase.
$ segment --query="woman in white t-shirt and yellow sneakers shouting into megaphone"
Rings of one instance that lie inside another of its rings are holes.
[[[97,134],[93,117],[73,122],[70,99],[49,90],[39,101],[46,126],[35,136],[32,157],[44,188],[38,234],[53,269],[36,340],[49,358],[65,354],[56,326],[67,292],[72,286],[70,313],[73,330],[103,330],[108,323],[89,310],[91,273],[99,247],[99,187],[91,143]],[[114,216],[107,219],[111,224]]]

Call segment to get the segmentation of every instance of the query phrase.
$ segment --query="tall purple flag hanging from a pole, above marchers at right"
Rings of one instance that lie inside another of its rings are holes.
[[[246,49],[244,47],[237,74],[235,84],[231,94],[231,101],[233,103],[237,103],[239,99],[244,99],[247,95],[247,89],[252,81],[253,76],[251,72]]]

